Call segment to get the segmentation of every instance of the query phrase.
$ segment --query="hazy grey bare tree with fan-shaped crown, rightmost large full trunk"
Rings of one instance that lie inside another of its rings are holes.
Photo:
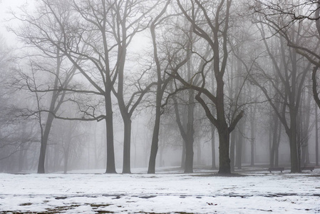
[[[299,58],[295,49],[284,46],[282,36],[273,37],[273,39],[277,40],[276,44],[279,44],[279,49],[271,49],[270,44],[267,42],[267,33],[264,31],[264,28],[265,26],[262,24],[259,26],[264,46],[274,66],[274,73],[267,73],[264,71],[264,68],[259,67],[259,71],[262,72],[261,75],[252,78],[252,80],[254,84],[262,90],[264,96],[267,97],[277,118],[279,118],[282,126],[284,126],[290,142],[291,173],[297,173],[300,171],[300,150],[297,139],[299,130],[297,127],[298,113],[306,75],[310,71],[311,64],[305,63],[304,58]],[[299,29],[298,26],[291,26],[291,31],[289,31],[288,34],[291,38],[299,40],[303,37]],[[258,80],[258,78],[260,78],[260,80]],[[261,78],[264,79],[264,81]],[[275,95],[271,94],[272,91],[267,91],[265,86],[266,81],[274,88]],[[282,108],[279,108],[279,103],[283,103]]]

